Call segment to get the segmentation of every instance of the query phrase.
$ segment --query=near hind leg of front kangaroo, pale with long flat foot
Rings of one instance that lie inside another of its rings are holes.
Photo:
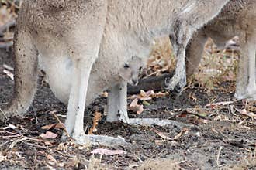
[[[99,53],[103,30],[106,23],[106,2],[91,1],[85,19],[78,22],[67,35],[68,55],[73,62],[71,93],[67,106],[65,125],[67,133],[78,144],[86,145],[126,145],[123,138],[112,138],[98,135],[85,135],[84,110],[88,90],[88,80],[92,65]],[[88,2],[89,3],[89,2]],[[92,9],[90,9],[93,7]],[[88,24],[85,24],[88,23]],[[81,31],[83,30],[83,31]],[[86,31],[85,31],[86,30]],[[86,39],[86,41],[85,41]]]

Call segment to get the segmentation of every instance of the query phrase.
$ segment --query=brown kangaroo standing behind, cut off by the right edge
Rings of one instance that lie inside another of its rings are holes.
[[[186,49],[186,70],[190,76],[199,65],[208,37],[223,48],[227,40],[240,38],[237,99],[256,100],[256,8],[255,0],[230,1],[213,21],[199,29]]]

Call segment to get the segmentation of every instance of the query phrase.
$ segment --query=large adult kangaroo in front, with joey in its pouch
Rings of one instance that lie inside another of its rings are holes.
[[[172,35],[178,63],[170,87],[180,80],[183,86],[185,47],[192,32],[213,19],[227,2],[25,0],[14,41],[15,89],[1,119],[26,112],[36,91],[39,63],[54,94],[68,101],[65,125],[75,141],[122,143],[119,138],[85,135],[85,105],[99,91],[122,86],[119,66],[132,56],[149,56],[150,42],[156,36]],[[123,108],[123,99],[119,107]]]

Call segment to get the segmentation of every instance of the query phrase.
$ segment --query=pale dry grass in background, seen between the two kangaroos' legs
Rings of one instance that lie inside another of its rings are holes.
[[[175,56],[171,52],[171,42],[168,37],[156,39],[150,59],[147,73],[160,75],[166,71],[175,70]],[[208,90],[213,90],[223,81],[235,81],[237,73],[239,53],[236,50],[218,50],[213,41],[209,39],[202,55],[202,61],[189,83],[199,83]],[[234,89],[233,89],[234,90]]]

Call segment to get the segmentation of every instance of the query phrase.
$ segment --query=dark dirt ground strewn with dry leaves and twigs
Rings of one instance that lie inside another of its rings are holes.
[[[10,100],[14,85],[4,73],[4,64],[13,66],[12,53],[1,49],[0,104]],[[256,169],[256,104],[236,100],[234,87],[234,81],[224,81],[206,90],[192,82],[176,99],[155,98],[144,104],[142,114],[130,112],[130,117],[169,118],[180,126],[135,127],[108,123],[103,116],[95,134],[122,136],[132,147],[108,148],[124,150],[124,155],[92,155],[95,148],[106,147],[61,141],[61,128],[42,128],[64,122],[67,107],[40,77],[33,106],[25,117],[0,124],[0,169]],[[224,101],[231,102],[217,104]],[[103,114],[105,105],[106,98],[100,97],[86,108],[87,129],[92,127],[95,110]],[[57,138],[40,138],[47,131]]]

